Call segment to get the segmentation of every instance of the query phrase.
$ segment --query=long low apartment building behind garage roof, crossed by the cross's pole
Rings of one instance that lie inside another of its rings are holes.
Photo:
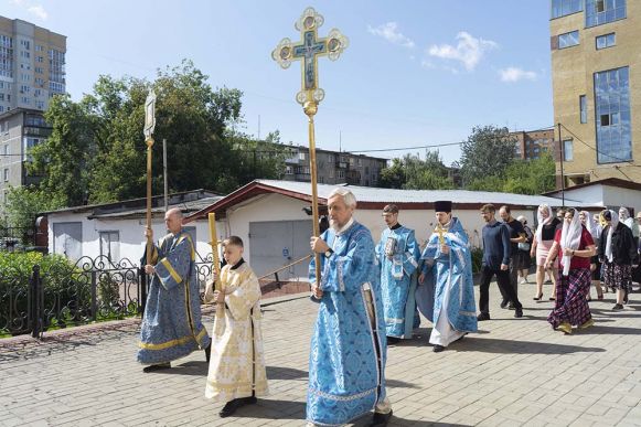
[[[288,147],[291,157],[285,160],[286,181],[309,182],[309,148]],[[342,184],[376,186],[381,171],[387,167],[387,159],[352,154],[344,151],[316,150],[317,178],[320,184]]]

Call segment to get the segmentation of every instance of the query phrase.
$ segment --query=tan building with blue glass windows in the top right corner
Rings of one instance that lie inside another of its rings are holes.
[[[564,185],[641,182],[641,1],[552,0],[549,32]]]

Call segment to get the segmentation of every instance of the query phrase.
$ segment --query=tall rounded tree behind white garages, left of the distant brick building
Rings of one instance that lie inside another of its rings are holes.
[[[476,126],[461,146],[463,185],[473,190],[472,185],[478,185],[489,175],[504,178],[515,153],[516,138],[510,135],[508,128]],[[492,181],[495,180],[489,180]]]

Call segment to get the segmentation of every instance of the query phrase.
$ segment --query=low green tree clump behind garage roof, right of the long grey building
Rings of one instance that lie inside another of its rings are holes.
[[[406,190],[453,188],[438,151],[430,150],[425,152],[425,160],[415,154],[393,159],[392,164],[381,171],[380,184],[383,188]]]

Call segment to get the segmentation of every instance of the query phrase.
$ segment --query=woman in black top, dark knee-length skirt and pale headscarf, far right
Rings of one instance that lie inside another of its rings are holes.
[[[603,217],[608,225],[601,234],[599,258],[603,266],[603,284],[617,289],[617,303],[612,310],[622,310],[628,303],[628,292],[632,287],[632,265],[639,264],[632,231],[619,221],[615,211],[607,211]]]

